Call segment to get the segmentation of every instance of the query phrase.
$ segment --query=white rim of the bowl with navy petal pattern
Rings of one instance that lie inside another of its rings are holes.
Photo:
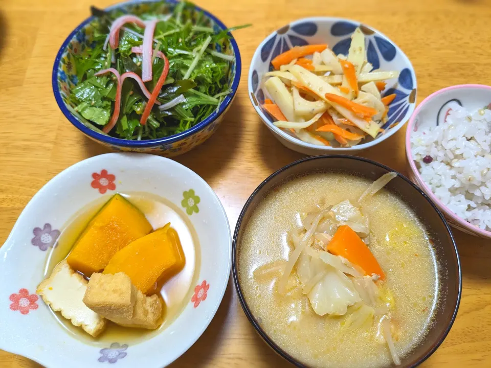
[[[415,102],[413,104],[412,112],[409,112],[409,110],[408,110],[408,112],[406,113],[406,116],[408,116],[407,120],[404,123],[402,123],[402,121],[401,121],[399,124],[397,124],[393,128],[388,129],[388,132],[387,133],[384,133],[382,135],[377,136],[376,138],[374,138],[370,142],[361,143],[361,144],[358,144],[358,145],[355,145],[355,146],[351,146],[351,147],[318,146],[318,145],[314,145],[314,144],[311,144],[311,143],[303,142],[302,140],[298,139],[297,137],[294,137],[294,136],[291,136],[291,135],[287,134],[285,131],[283,131],[282,128],[278,128],[276,125],[274,125],[273,124],[273,121],[270,118],[268,118],[264,112],[261,111],[261,109],[259,108],[259,104],[256,104],[254,102],[254,99],[256,99],[256,96],[254,95],[254,91],[252,90],[252,87],[251,87],[252,86],[252,72],[253,72],[252,61],[257,57],[257,55],[259,55],[258,53],[259,53],[260,49],[262,48],[262,46],[267,41],[269,41],[271,38],[273,38],[275,35],[277,35],[278,34],[278,30],[279,29],[282,29],[284,26],[278,28],[277,30],[275,30],[272,33],[270,33],[269,35],[267,35],[261,41],[261,43],[259,43],[258,47],[254,51],[254,54],[253,54],[253,57],[252,57],[252,60],[251,60],[251,67],[249,68],[249,73],[248,73],[248,76],[247,76],[248,94],[249,94],[249,99],[251,100],[251,104],[254,107],[254,110],[256,111],[256,113],[259,115],[259,118],[261,118],[261,120],[264,122],[264,124],[266,124],[266,126],[268,128],[270,128],[270,130],[272,132],[276,133],[282,139],[284,139],[287,142],[292,143],[292,144],[294,144],[296,146],[301,146],[301,147],[304,147],[304,148],[307,148],[307,149],[320,149],[320,150],[326,151],[326,152],[328,152],[328,151],[331,151],[331,152],[338,151],[340,154],[342,154],[343,151],[344,152],[360,151],[360,150],[364,150],[364,149],[368,149],[368,148],[371,148],[373,146],[376,146],[377,144],[379,144],[379,143],[387,140],[390,136],[392,136],[393,134],[395,134],[400,128],[402,128],[404,125],[406,125],[406,123],[411,118],[414,110],[416,109],[416,105],[417,105],[416,104],[416,98],[417,98],[418,83],[417,83],[416,71],[414,70],[414,66],[413,66],[411,60],[409,59],[409,57],[404,53],[404,51],[394,41],[392,41],[384,33],[378,31],[377,29],[373,28],[372,26],[367,26],[366,24],[364,24],[363,22],[358,21],[358,20],[349,19],[349,18],[339,18],[339,17],[314,16],[314,17],[300,18],[300,19],[294,20],[292,22],[289,22],[287,25],[290,26],[290,27],[292,27],[292,26],[297,25],[298,23],[302,23],[302,22],[306,22],[306,21],[314,21],[314,20],[318,20],[318,19],[328,20],[328,21],[346,21],[346,22],[350,22],[350,23],[353,23],[353,24],[358,24],[359,26],[365,26],[365,27],[369,28],[370,30],[372,30],[377,35],[382,36],[386,41],[390,42],[392,45],[394,45],[395,48],[396,48],[396,50],[398,52],[400,52],[401,55],[403,55],[403,57],[408,62],[408,65],[411,66],[411,71],[413,72],[413,76],[414,76],[414,87],[413,88],[416,89],[416,95],[414,96]],[[254,99],[253,99],[253,96],[254,96]]]

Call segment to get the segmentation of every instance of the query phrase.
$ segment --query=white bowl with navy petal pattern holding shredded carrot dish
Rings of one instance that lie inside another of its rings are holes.
[[[347,55],[350,36],[356,27],[360,27],[365,34],[367,59],[373,67],[384,71],[400,72],[399,78],[389,80],[382,92],[382,96],[397,95],[389,108],[389,120],[382,127],[385,132],[379,134],[373,141],[353,147],[326,147],[303,142],[293,134],[276,127],[269,114],[261,107],[264,103],[263,75],[273,70],[271,60],[292,47],[318,43],[327,43],[337,55]],[[303,18],[267,36],[252,58],[248,84],[252,105],[264,124],[284,146],[307,155],[353,153],[373,147],[403,127],[414,111],[416,101],[416,75],[408,57],[394,42],[377,30],[360,22],[342,18]]]

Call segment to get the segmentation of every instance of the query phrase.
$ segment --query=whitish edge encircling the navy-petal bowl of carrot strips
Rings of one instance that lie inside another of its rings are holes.
[[[336,23],[336,22],[350,22],[350,23],[355,24],[355,25],[358,25],[358,26],[364,25],[362,22],[360,22],[358,20],[353,20],[353,19],[348,19],[348,18],[338,18],[338,17],[308,17],[308,18],[301,18],[301,19],[297,19],[295,21],[290,22],[288,25],[289,25],[290,28],[293,28],[294,26],[296,26],[298,24],[301,24],[301,23],[304,23],[304,22],[332,22],[333,24]],[[364,26],[366,26],[366,25],[364,25]],[[385,34],[383,34],[382,32],[380,32],[378,30],[376,30],[375,28],[373,28],[371,26],[367,26],[367,27],[370,30],[372,30],[377,36],[383,37],[385,40],[387,40],[392,45],[394,45],[396,51],[398,53],[400,53],[400,55],[406,61],[407,66],[410,68],[410,71],[411,71],[411,73],[412,73],[412,75],[414,77],[413,89],[415,89],[417,91],[416,73],[414,71],[414,67],[413,67],[411,61],[406,56],[406,54],[397,46],[397,44],[395,44]],[[282,28],[284,28],[284,27],[280,27],[278,29],[281,30]],[[404,123],[403,122],[400,122],[399,124],[397,124],[396,126],[392,127],[391,129],[388,129],[385,134],[382,134],[382,135],[379,135],[378,137],[376,137],[373,141],[367,142],[367,143],[363,143],[363,144],[359,144],[359,145],[352,146],[352,147],[318,146],[318,145],[306,143],[306,142],[301,141],[300,139],[297,139],[297,138],[293,137],[292,135],[287,134],[286,132],[283,131],[283,129],[280,129],[277,126],[275,126],[273,124],[273,122],[271,121],[271,119],[269,117],[267,117],[261,111],[261,109],[259,108],[259,106],[254,101],[255,96],[254,96],[254,91],[253,91],[253,88],[252,88],[252,74],[254,72],[255,60],[257,58],[260,58],[260,53],[261,53],[261,49],[262,49],[263,45],[267,41],[269,41],[271,38],[275,37],[275,35],[277,34],[277,32],[278,31],[276,30],[276,31],[272,32],[269,36],[267,36],[266,38],[264,38],[264,40],[258,45],[256,51],[254,52],[254,56],[252,57],[252,60],[251,60],[251,66],[249,68],[248,93],[249,93],[249,99],[251,100],[251,103],[252,103],[254,109],[256,110],[257,114],[262,119],[262,121],[265,122],[265,124],[270,129],[272,129],[276,134],[278,134],[279,136],[281,136],[284,140],[286,140],[288,142],[291,142],[291,143],[293,143],[295,145],[298,145],[298,146],[302,146],[302,147],[306,147],[306,148],[319,149],[319,150],[324,150],[324,151],[345,151],[345,152],[348,152],[348,151],[359,151],[359,150],[362,150],[362,149],[373,147],[373,146],[377,145],[378,143],[385,141],[386,139],[388,139],[391,135],[393,135],[395,132],[397,132],[400,128],[402,128],[406,124],[406,121]],[[415,98],[416,98],[416,96],[415,96]],[[410,108],[409,108],[409,110],[406,113],[406,116],[408,117],[407,120],[409,120],[409,117],[412,115],[415,107],[416,107],[416,101],[414,103],[410,104]]]

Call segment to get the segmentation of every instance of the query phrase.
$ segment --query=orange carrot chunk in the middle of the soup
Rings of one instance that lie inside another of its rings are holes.
[[[338,231],[327,244],[327,250],[361,267],[365,275],[375,273],[381,280],[385,280],[385,273],[368,246],[348,225],[338,227]]]

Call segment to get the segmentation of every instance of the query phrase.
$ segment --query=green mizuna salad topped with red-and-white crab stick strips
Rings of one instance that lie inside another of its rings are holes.
[[[78,82],[70,100],[104,133],[157,139],[203,121],[231,93],[232,29],[216,32],[190,3],[136,9],[92,9],[94,41],[74,55]]]

